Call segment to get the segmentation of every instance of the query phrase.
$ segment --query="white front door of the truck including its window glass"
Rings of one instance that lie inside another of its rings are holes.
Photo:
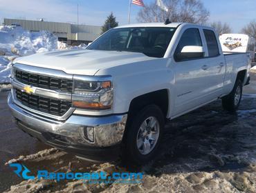
[[[175,54],[181,52],[187,45],[203,46],[198,28],[188,28],[183,32],[174,52],[174,59]],[[208,94],[205,90],[211,87],[212,73],[204,56],[176,61],[173,69],[174,93],[176,93],[173,116],[183,114],[209,100],[205,98]]]

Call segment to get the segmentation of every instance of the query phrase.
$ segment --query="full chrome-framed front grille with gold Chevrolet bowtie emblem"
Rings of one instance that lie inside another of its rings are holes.
[[[12,96],[17,105],[37,116],[66,120],[73,113],[73,74],[15,63]]]

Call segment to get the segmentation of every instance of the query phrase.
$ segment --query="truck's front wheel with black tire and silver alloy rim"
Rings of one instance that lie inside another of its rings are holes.
[[[153,125],[154,127],[150,127]],[[154,159],[161,143],[164,125],[163,112],[157,105],[147,105],[140,110],[129,120],[122,148],[122,160],[141,165]]]

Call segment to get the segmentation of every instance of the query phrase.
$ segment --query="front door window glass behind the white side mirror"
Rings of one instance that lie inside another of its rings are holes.
[[[203,46],[200,33],[197,28],[189,28],[185,30],[185,32],[183,32],[181,39],[179,41],[179,44],[177,45],[177,48],[175,50],[174,59],[176,61],[183,61],[183,60],[203,57],[203,54],[194,55],[194,57],[193,56],[181,57],[181,50],[183,49],[184,46],[187,46],[187,45]]]

